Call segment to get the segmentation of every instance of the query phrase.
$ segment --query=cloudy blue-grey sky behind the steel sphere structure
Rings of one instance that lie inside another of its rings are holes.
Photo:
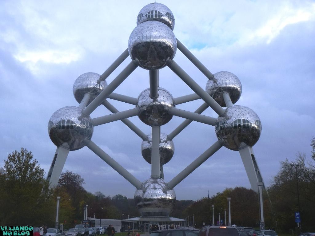
[[[85,72],[102,74],[127,48],[140,9],[150,1],[0,2],[0,166],[21,147],[32,151],[46,174],[56,147],[47,124],[64,106],[77,105],[73,82]],[[212,72],[226,70],[240,79],[238,105],[253,109],[262,134],[253,147],[266,185],[280,161],[298,151],[310,160],[314,133],[314,1],[161,1],[175,16],[175,36]],[[201,87],[207,78],[177,50],[174,60]],[[108,77],[110,82],[131,61]],[[169,68],[160,86],[174,97],[193,93]],[[149,73],[137,68],[116,93],[138,97],[149,87]],[[108,99],[118,110],[134,106]],[[197,100],[177,107],[194,111]],[[110,114],[103,106],[91,117]],[[217,117],[208,108],[203,114]],[[149,134],[138,117],[130,118]],[[171,132],[184,119],[161,127]],[[97,126],[92,140],[140,181],[151,175],[142,158],[142,140],[121,121]],[[217,140],[213,126],[193,122],[174,138],[175,155],[164,166],[169,181]],[[135,188],[84,147],[70,152],[63,171],[80,174],[84,188],[106,196],[133,198]],[[227,187],[250,188],[240,155],[221,148],[175,187],[177,199],[201,199]]]

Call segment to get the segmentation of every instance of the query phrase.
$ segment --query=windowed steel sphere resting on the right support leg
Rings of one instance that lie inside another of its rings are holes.
[[[261,122],[258,115],[248,107],[231,106],[218,117],[215,133],[222,144],[231,150],[238,151],[252,147],[261,134]]]

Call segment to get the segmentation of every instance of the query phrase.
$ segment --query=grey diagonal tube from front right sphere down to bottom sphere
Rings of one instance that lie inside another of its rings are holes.
[[[176,175],[171,181],[169,181],[169,188],[174,188],[183,179],[185,179],[192,171],[196,170],[203,162],[205,162],[210,156],[218,151],[222,145],[219,141],[216,141],[210,148],[208,148],[203,154],[201,154],[196,160],[189,164],[184,170]]]

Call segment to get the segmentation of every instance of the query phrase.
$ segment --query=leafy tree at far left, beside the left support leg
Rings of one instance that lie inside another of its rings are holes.
[[[51,191],[44,180],[44,170],[27,149],[21,148],[8,155],[0,170],[2,184],[0,224],[27,225],[37,223],[37,215],[44,212],[43,205]]]

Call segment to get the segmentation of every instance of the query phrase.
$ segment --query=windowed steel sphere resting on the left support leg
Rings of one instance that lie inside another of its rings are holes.
[[[51,141],[74,151],[83,148],[93,134],[92,120],[75,106],[60,108],[55,111],[48,122],[48,133]]]

